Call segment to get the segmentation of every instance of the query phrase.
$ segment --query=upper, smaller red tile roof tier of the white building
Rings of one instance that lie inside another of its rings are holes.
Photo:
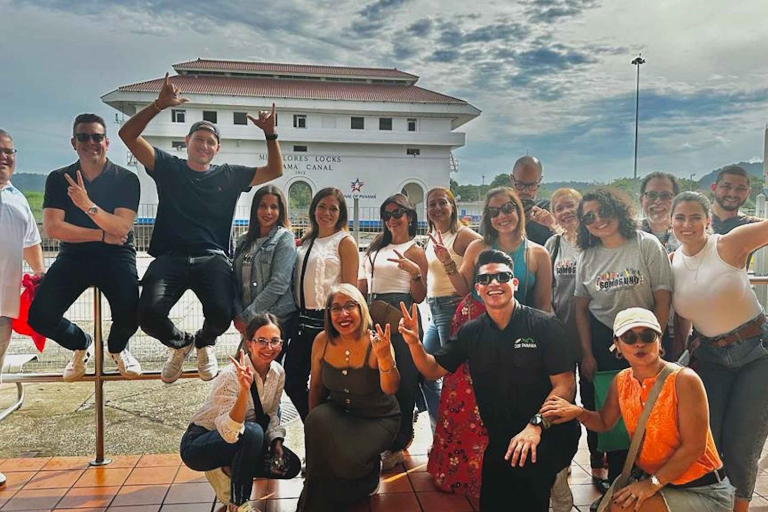
[[[330,74],[334,76],[377,77],[377,78],[409,78],[418,79],[415,74],[399,71],[396,68],[349,68],[346,66],[318,66],[314,64],[276,64],[270,62],[250,61],[217,61],[198,58],[197,61],[174,64],[178,71],[210,70],[210,71],[253,71],[271,74]]]

